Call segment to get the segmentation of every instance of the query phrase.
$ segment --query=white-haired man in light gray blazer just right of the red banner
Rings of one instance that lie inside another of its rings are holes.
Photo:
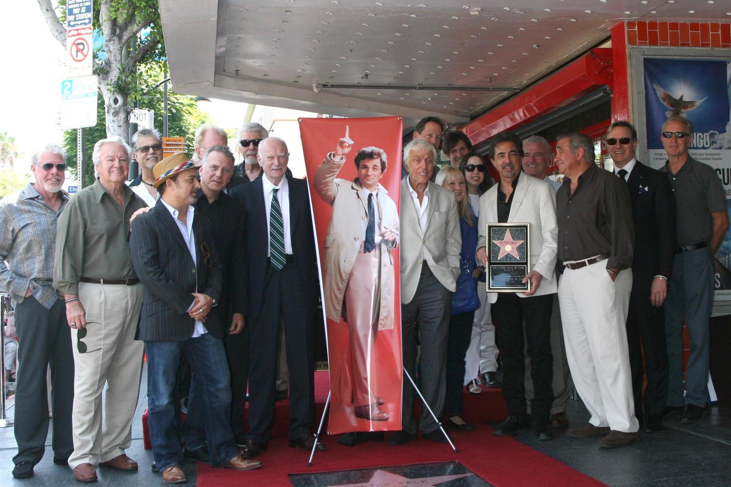
[[[414,325],[419,320],[421,392],[437,418],[444,413],[445,369],[450,304],[460,271],[457,201],[451,191],[431,182],[436,150],[425,140],[404,149],[409,175],[401,180],[401,342],[404,367],[415,377]],[[414,417],[414,389],[404,378],[402,427],[388,440],[401,445],[416,437],[446,442],[439,424],[424,410]]]

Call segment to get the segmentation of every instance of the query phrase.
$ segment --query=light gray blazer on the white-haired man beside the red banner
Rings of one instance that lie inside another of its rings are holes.
[[[457,200],[452,191],[429,183],[426,231],[422,233],[414,207],[409,176],[401,180],[401,303],[414,299],[422,262],[445,288],[455,292],[460,272],[462,234]]]

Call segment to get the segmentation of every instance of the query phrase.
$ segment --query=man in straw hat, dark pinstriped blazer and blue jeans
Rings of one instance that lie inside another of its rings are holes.
[[[129,246],[145,285],[139,339],[148,358],[148,411],[155,464],[165,483],[186,481],[181,465],[178,411],[173,400],[181,356],[200,377],[205,436],[214,466],[254,469],[243,459],[230,424],[231,390],[223,345],[224,323],[211,313],[221,294],[221,264],[211,224],[195,215],[200,183],[183,154],[154,167],[160,199],[132,223]]]

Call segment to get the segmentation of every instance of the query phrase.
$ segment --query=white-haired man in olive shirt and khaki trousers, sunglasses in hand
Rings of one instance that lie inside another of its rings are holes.
[[[99,140],[91,157],[99,178],[76,193],[58,218],[53,267],[53,287],[66,300],[76,366],[69,467],[83,483],[96,480],[100,463],[137,469],[124,450],[132,440],[143,358],[143,342],[135,341],[143,285],[127,236],[129,218],[145,202],[124,184],[130,159],[124,140]]]

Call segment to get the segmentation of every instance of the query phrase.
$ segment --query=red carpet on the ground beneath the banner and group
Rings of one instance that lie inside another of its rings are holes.
[[[317,421],[327,397],[327,372],[317,372]],[[339,438],[325,437],[327,451],[315,453],[307,467],[309,452],[287,446],[287,402],[277,404],[276,423],[269,449],[258,458],[264,466],[249,472],[211,469],[198,464],[197,485],[201,487],[289,486],[290,473],[314,473],[333,470],[387,467],[404,464],[425,464],[438,461],[459,461],[493,486],[601,486],[602,483],[567,467],[549,456],[523,445],[510,437],[496,437],[486,422],[505,418],[505,402],[499,389],[483,389],[479,395],[465,394],[465,419],[474,424],[474,432],[452,432],[458,448],[449,444],[419,438],[406,445],[388,446],[385,442],[366,442],[354,447],[338,445]],[[317,427],[317,424],[315,425]],[[388,433],[387,433],[388,435]]]

